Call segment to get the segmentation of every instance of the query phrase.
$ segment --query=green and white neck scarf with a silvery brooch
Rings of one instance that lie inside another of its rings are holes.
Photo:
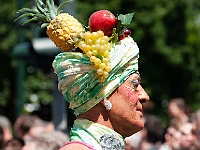
[[[70,141],[83,142],[95,150],[124,150],[124,138],[114,130],[86,119],[76,119]]]

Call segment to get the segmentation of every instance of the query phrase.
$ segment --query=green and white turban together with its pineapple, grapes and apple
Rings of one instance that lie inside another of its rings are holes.
[[[36,0],[37,10],[23,8],[16,20],[39,21],[47,35],[63,53],[53,61],[58,89],[77,116],[108,97],[132,73],[138,70],[139,48],[130,37],[133,13],[115,17],[108,10],[94,12],[89,30],[67,13],[61,13],[53,0]],[[87,31],[88,30],[88,31]]]

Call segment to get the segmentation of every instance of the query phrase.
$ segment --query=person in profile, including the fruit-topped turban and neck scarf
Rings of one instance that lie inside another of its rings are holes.
[[[63,53],[53,62],[58,88],[77,119],[70,141],[61,150],[125,148],[124,138],[144,127],[142,103],[149,96],[140,85],[139,48],[130,37],[134,13],[115,17],[107,10],[93,13],[86,32],[82,24],[62,14],[53,0],[36,1],[37,10],[24,8],[16,20],[29,16],[47,27],[47,35]],[[24,23],[24,24],[25,24]],[[126,30],[127,29],[127,30]]]

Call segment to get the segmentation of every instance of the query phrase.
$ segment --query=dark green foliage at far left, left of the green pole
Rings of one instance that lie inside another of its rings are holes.
[[[1,1],[0,5],[0,106],[5,107],[12,99],[14,76],[12,66],[12,47],[16,43],[16,31],[13,28],[13,16],[16,1]]]

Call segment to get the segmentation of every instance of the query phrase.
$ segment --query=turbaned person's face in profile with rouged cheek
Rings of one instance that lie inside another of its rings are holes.
[[[140,85],[139,73],[132,74],[108,98],[113,107],[109,111],[114,130],[122,136],[130,136],[144,127],[142,103],[149,100]]]

